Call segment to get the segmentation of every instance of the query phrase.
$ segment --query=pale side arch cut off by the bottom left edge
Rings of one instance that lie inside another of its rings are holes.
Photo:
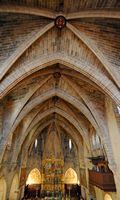
[[[6,181],[4,178],[0,178],[0,200],[6,199]]]

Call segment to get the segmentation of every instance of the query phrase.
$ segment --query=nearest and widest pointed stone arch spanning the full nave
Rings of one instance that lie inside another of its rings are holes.
[[[23,69],[21,69],[21,71],[18,71],[18,73],[16,72],[18,74],[18,77],[15,77],[14,74],[12,75],[13,77],[8,77],[8,79],[11,79],[11,83],[9,84],[9,86],[5,86],[4,84],[5,87],[3,86],[2,90],[0,91],[0,98],[6,95],[10,91],[10,89],[15,87],[20,81],[25,79],[27,76],[31,75],[33,72],[37,72],[50,65],[60,63],[88,77],[90,80],[96,83],[102,89],[102,91],[108,94],[117,104],[119,104],[120,94],[118,88],[115,85],[113,85],[111,80],[109,80],[106,76],[102,75],[100,72],[98,72],[98,75],[96,75],[96,70],[94,70],[94,72],[92,70],[91,73],[92,66],[87,64],[83,65],[83,62],[84,61],[80,61],[75,58],[73,59],[70,56],[64,55],[62,53],[56,53],[52,55],[50,54],[47,56],[47,58],[46,56],[40,57],[40,59],[36,59],[35,62],[28,63],[24,66],[24,68],[26,68],[26,72]],[[101,81],[100,77],[102,76],[104,81]]]

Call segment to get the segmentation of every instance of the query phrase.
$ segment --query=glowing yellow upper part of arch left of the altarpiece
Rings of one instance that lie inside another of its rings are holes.
[[[26,184],[27,185],[41,184],[41,174],[37,168],[34,168],[30,171]]]

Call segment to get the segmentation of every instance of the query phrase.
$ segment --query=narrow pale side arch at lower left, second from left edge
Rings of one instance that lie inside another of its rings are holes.
[[[12,181],[12,186],[10,189],[10,200],[17,200],[18,187],[19,187],[19,178],[18,178],[18,174],[15,174],[13,181]]]

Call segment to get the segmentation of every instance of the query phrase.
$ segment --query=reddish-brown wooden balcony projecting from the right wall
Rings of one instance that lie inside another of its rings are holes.
[[[115,182],[112,172],[97,172],[89,170],[89,183],[108,192],[115,192]]]

